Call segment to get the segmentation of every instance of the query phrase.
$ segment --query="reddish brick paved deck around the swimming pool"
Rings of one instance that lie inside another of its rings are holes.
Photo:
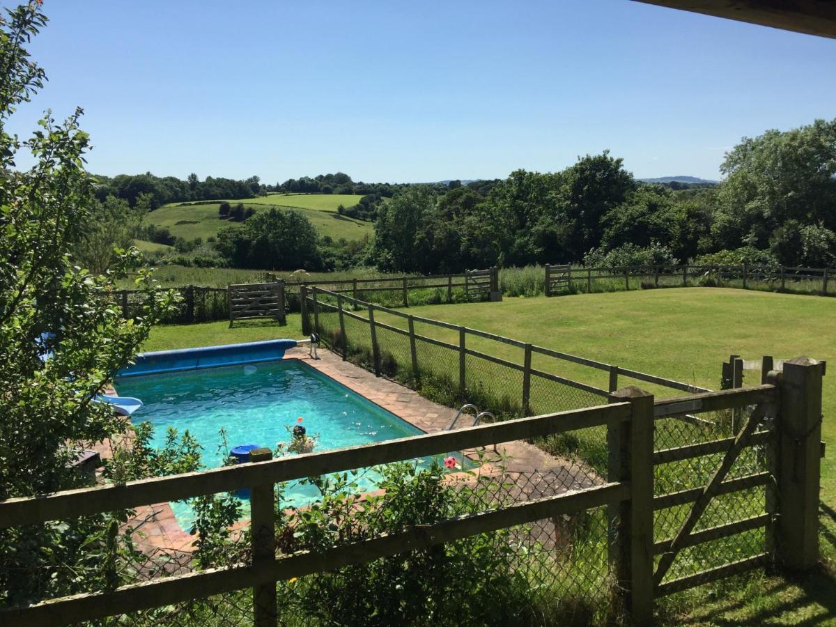
[[[313,359],[308,354],[307,346],[289,349],[284,359],[303,361],[426,433],[446,430],[456,416],[456,410],[426,400],[415,390],[410,390],[395,381],[377,377],[368,370],[344,361],[338,354],[328,349],[319,349],[319,359]],[[459,424],[468,426],[470,421],[461,420]],[[590,473],[588,469],[582,471],[577,464],[548,455],[537,446],[525,441],[512,441],[497,445],[497,451],[502,456],[502,462],[495,463],[497,455],[488,449],[486,457],[489,463],[482,467],[480,473],[483,475],[502,473],[511,481],[515,476],[522,477],[524,474],[527,481],[524,482],[524,486],[521,482],[521,490],[515,497],[517,501],[554,496],[604,482],[600,477]],[[103,456],[109,453],[106,450],[101,452]],[[475,456],[475,451],[466,451],[466,454]],[[539,476],[540,473],[543,475],[542,481],[530,480],[533,474]],[[555,477],[558,477],[557,480]],[[240,526],[245,527],[248,523],[249,521],[243,521]],[[140,550],[146,554],[158,552],[185,554],[193,550],[195,536],[180,527],[167,502],[137,508],[135,517],[127,525],[135,528],[139,533],[135,541]]]

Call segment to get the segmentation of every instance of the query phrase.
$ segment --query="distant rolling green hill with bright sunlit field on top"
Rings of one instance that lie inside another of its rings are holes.
[[[340,204],[353,206],[361,197],[349,195],[294,194],[289,196],[271,195],[252,198],[247,201],[229,202],[232,205],[242,202],[245,207],[252,207],[255,211],[262,211],[264,208],[271,206],[284,210],[293,208],[308,217],[321,236],[329,236],[334,239],[344,237],[347,240],[359,240],[363,239],[366,235],[370,236],[374,232],[372,223],[340,216],[337,213],[337,206]],[[273,201],[274,198],[277,200]],[[284,204],[284,202],[288,202],[288,204]],[[298,204],[291,205],[289,204],[291,202]],[[182,237],[187,241],[201,237],[205,242],[207,237],[217,236],[217,232],[223,227],[239,224],[239,222],[229,222],[218,218],[217,209],[220,204],[221,201],[210,205],[178,204],[161,206],[159,209],[146,214],[143,222],[145,224],[153,224],[155,227],[165,227],[171,232],[171,235]]]

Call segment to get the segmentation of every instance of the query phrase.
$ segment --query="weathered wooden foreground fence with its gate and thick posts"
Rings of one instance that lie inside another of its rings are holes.
[[[255,624],[273,625],[277,624],[279,580],[367,563],[546,517],[608,507],[611,533],[607,550],[613,591],[623,595],[637,624],[647,624],[656,597],[766,563],[775,562],[793,570],[815,566],[822,375],[823,364],[799,358],[784,364],[782,374],[772,373],[770,383],[754,388],[705,392],[658,402],[646,392],[626,388],[611,395],[608,405],[581,410],[275,460],[270,458],[270,451],[262,449],[253,453],[250,464],[37,498],[8,499],[0,502],[3,528],[251,487],[252,559],[249,563],[3,609],[0,622],[78,623],[252,588]],[[732,437],[661,449],[655,446],[654,421],[667,421],[686,412],[743,410],[751,406],[754,410],[746,425]],[[777,428],[765,428],[776,425]],[[604,428],[608,434],[609,465],[601,485],[429,525],[407,526],[400,532],[334,546],[321,553],[277,556],[273,502],[273,484],[277,482],[592,427]],[[737,457],[752,447],[765,447],[766,469],[729,478]],[[672,492],[660,492],[655,485],[660,466],[712,455],[720,456],[720,462],[704,485]],[[766,491],[765,512],[720,525],[701,524],[712,500],[754,487]],[[659,512],[675,507],[681,508],[682,516],[674,526],[660,530]],[[667,529],[672,533],[660,535]],[[682,552],[753,529],[762,530],[764,538],[755,553],[740,557],[732,550],[723,555],[720,565],[684,577],[666,577],[673,572],[671,567],[675,567]],[[657,555],[661,557],[655,563]]]

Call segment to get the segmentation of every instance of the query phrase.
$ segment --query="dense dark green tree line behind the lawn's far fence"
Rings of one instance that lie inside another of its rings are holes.
[[[563,171],[518,170],[477,191],[410,186],[380,206],[381,269],[493,264],[836,265],[836,120],[769,130],[726,153],[716,186],[636,181],[604,151]],[[719,260],[719,261],[718,261]]]

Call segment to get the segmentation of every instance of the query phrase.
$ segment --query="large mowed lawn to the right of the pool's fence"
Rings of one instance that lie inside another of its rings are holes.
[[[414,307],[410,314],[714,390],[720,386],[721,364],[730,354],[744,359],[764,354],[776,359],[807,355],[836,363],[836,298],[670,288]],[[498,343],[492,344],[497,346],[492,352],[498,353]],[[592,370],[575,364],[566,364],[563,372],[569,377],[584,376],[580,380],[593,384],[603,381],[589,381],[586,373]],[[747,372],[744,384],[760,384],[759,373]],[[635,380],[623,380],[620,385],[650,388]],[[829,372],[823,395],[824,440],[836,446],[836,376]],[[822,474],[824,501],[836,505],[833,455],[823,459]]]

